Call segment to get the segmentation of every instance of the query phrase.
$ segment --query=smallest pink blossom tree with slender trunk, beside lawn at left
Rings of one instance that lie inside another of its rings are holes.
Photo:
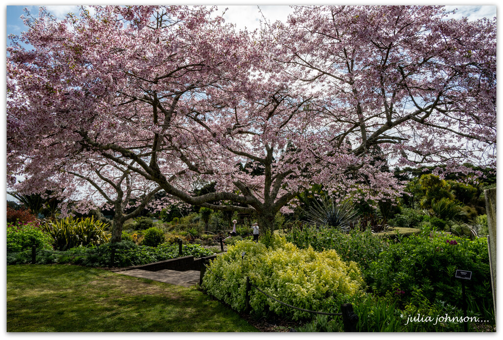
[[[70,210],[79,213],[96,208],[113,210],[112,242],[121,240],[126,220],[140,215],[145,208],[159,210],[172,203],[167,197],[156,197],[161,191],[156,183],[106,158],[82,151],[63,157],[52,154],[49,158],[47,155],[44,147],[25,155],[26,166],[22,167],[22,172],[30,177],[15,184],[14,188],[30,194],[50,193],[58,200],[64,216]],[[46,164],[46,159],[53,163]]]

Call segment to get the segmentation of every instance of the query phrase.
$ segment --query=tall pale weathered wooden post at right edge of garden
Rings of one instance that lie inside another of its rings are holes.
[[[487,235],[487,251],[489,252],[494,317],[496,317],[496,188],[484,190],[484,196],[485,210],[487,213],[487,228],[489,229],[489,235]]]

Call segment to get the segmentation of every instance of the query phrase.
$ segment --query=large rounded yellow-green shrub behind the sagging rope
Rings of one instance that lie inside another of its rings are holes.
[[[242,252],[245,252],[241,259]],[[245,277],[267,294],[293,306],[309,310],[333,307],[334,296],[361,292],[363,279],[356,263],[344,263],[335,250],[316,252],[299,249],[275,236],[266,248],[250,240],[229,246],[227,253],[212,261],[204,276],[203,287],[209,294],[232,308],[244,309]],[[250,306],[258,315],[268,310],[294,320],[310,316],[268,299],[252,288]]]

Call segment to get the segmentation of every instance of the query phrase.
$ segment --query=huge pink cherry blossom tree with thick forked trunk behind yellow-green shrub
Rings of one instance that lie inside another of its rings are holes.
[[[495,23],[442,16],[299,7],[288,25],[236,33],[204,7],[41,13],[17,38],[34,50],[8,48],[8,171],[41,145],[41,163],[90,152],[272,230],[315,183],[378,201],[401,190],[381,171],[390,163],[492,164]],[[216,192],[189,190],[211,182]]]

